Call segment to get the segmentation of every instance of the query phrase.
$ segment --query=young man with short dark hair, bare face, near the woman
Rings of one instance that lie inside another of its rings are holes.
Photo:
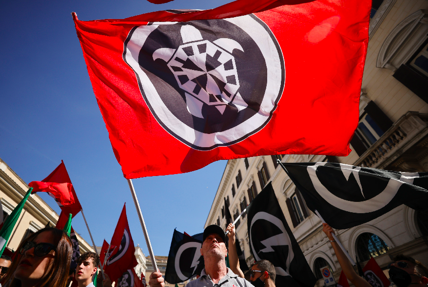
[[[95,252],[86,252],[77,258],[76,281],[78,287],[94,287],[92,276],[97,272],[100,257]]]

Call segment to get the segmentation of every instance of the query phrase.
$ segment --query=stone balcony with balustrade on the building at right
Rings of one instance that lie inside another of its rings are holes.
[[[354,165],[383,169],[426,134],[428,114],[409,111],[361,155]]]

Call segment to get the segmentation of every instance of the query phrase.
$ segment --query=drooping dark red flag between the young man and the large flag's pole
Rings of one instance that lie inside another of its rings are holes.
[[[122,209],[121,216],[114,230],[111,245],[118,246],[104,266],[104,272],[108,274],[111,281],[119,279],[128,269],[133,269],[137,264],[135,259],[135,247],[129,231],[126,218],[126,205]],[[111,249],[111,247],[110,247]]]

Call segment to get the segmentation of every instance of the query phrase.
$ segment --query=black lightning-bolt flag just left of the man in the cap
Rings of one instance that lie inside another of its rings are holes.
[[[204,268],[201,256],[202,233],[194,236],[183,234],[174,229],[165,281],[170,284],[184,282],[197,275],[197,270]]]

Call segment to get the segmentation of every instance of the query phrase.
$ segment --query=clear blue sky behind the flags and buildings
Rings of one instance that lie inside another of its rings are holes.
[[[228,0],[74,0],[2,2],[0,158],[26,183],[64,160],[95,243],[110,242],[124,202],[134,243],[143,232],[113,155],[89,81],[71,12],[79,20],[122,19],[165,9],[210,9]],[[192,173],[134,179],[155,255],[167,256],[174,228],[203,231],[226,161]],[[59,214],[49,196],[39,193]],[[83,218],[73,227],[90,243]]]

